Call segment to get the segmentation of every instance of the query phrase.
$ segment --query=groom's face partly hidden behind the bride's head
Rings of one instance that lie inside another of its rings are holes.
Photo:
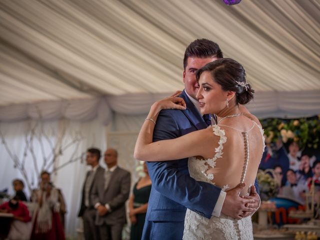
[[[199,89],[199,84],[196,80],[196,70],[204,66],[206,63],[216,60],[216,56],[210,57],[188,57],[186,67],[183,71],[184,89],[191,97],[196,99],[196,93]]]

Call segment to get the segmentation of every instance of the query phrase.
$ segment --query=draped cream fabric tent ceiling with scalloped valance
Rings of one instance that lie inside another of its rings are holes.
[[[1,0],[0,120],[143,114],[195,38],[243,64],[258,116],[320,113],[320,1]]]

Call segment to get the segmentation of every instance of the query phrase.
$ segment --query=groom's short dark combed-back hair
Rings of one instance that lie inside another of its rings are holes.
[[[214,41],[198,38],[192,41],[185,49],[183,57],[183,68],[185,70],[186,64],[188,63],[188,57],[210,57],[216,56],[222,58],[222,51],[217,43]]]

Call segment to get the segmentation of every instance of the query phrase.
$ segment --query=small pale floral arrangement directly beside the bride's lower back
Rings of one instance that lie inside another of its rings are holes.
[[[266,169],[264,171],[260,169],[256,175],[262,201],[267,201],[269,198],[276,196],[278,192],[279,186],[272,175],[273,169]]]

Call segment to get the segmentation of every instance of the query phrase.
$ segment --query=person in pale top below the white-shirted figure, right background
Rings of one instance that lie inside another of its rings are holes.
[[[282,191],[279,196],[295,199],[303,205],[305,202],[305,192],[308,191],[307,185],[303,182],[297,182],[293,169],[287,170],[286,179],[288,181],[288,185],[282,187]]]

